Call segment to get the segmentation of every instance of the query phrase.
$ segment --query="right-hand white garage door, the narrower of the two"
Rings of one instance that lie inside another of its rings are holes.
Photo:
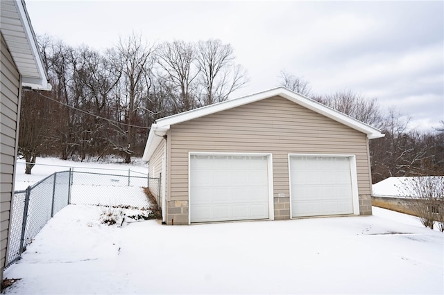
[[[349,157],[290,157],[291,215],[353,213]]]

